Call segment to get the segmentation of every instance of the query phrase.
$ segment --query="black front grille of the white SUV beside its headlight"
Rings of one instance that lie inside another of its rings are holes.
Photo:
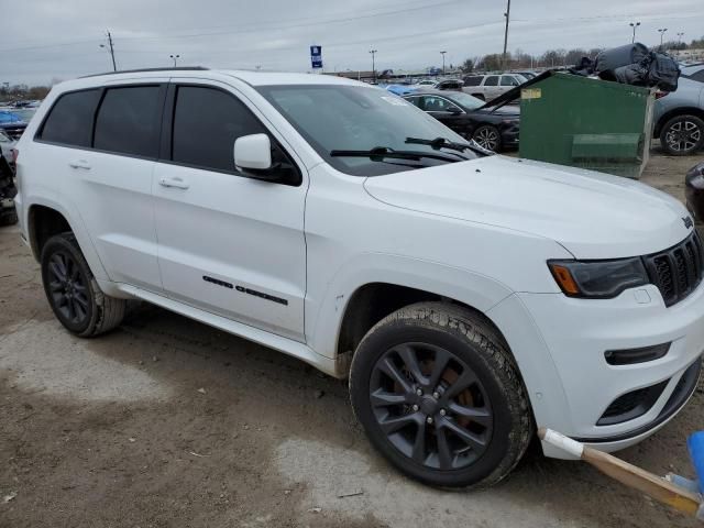
[[[644,257],[644,262],[666,306],[681,301],[702,282],[704,255],[696,231],[674,248]]]

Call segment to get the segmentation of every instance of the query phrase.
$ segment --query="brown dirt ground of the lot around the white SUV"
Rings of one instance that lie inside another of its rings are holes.
[[[682,198],[695,157],[653,152],[644,182]],[[623,457],[691,476],[704,388]],[[441,492],[372,450],[342,382],[151,306],[68,334],[16,227],[0,229],[0,528],[694,527],[537,449],[499,486]]]

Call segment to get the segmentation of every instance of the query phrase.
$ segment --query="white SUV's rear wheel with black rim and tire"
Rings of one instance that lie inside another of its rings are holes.
[[[72,333],[90,338],[122,322],[127,300],[100,290],[73,233],[57,234],[44,244],[42,282],[54,315]]]

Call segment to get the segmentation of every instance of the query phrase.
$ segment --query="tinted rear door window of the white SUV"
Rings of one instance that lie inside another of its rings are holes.
[[[109,89],[98,110],[94,146],[101,151],[156,157],[160,100],[158,86]]]

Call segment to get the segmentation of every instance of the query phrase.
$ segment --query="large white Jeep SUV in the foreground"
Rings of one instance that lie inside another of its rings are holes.
[[[82,78],[18,148],[22,234],[69,331],[136,298],[349,376],[372,443],[422,482],[497,482],[536,426],[634,444],[695,389],[704,265],[682,205],[483,157],[378,88]]]

